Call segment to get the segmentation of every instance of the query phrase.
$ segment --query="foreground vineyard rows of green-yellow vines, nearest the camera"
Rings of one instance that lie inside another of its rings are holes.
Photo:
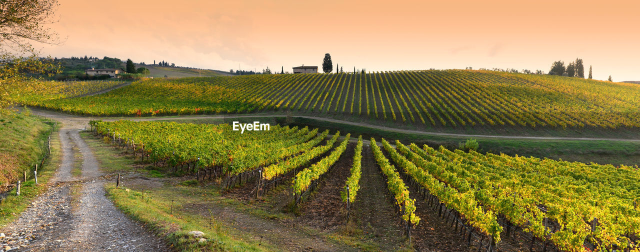
[[[222,178],[227,189],[248,187],[251,198],[284,184],[296,204],[305,204],[312,197],[308,193],[331,176],[350,140],[340,132],[280,126],[239,134],[226,124],[91,125],[105,141],[176,175],[200,181]],[[446,213],[447,221],[451,216],[457,221],[456,232],[460,224],[470,244],[475,240],[488,251],[500,251],[503,240],[518,239],[524,247],[530,242],[529,249],[536,244],[545,251],[639,251],[637,167],[451,151],[399,141],[392,145],[385,139],[379,144],[373,138],[364,148],[362,137],[356,143],[349,176],[337,192],[340,202],[353,207],[362,166],[376,166],[410,237],[425,217],[417,214],[416,203],[422,200],[431,206],[431,214],[444,218]],[[363,152],[372,152],[375,162],[362,163]]]

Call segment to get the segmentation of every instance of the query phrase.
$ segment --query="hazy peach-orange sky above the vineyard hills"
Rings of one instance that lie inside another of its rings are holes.
[[[515,68],[582,58],[594,79],[640,81],[640,1],[58,0],[62,43],[104,56],[228,71]]]

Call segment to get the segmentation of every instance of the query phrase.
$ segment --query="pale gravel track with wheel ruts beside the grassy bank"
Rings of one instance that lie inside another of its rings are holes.
[[[98,162],[80,138],[80,130],[73,129],[79,124],[68,123],[60,130],[62,162],[51,180],[51,189],[29,205],[17,221],[3,228],[6,237],[0,234],[0,252],[171,251],[106,198]],[[81,178],[71,175],[72,143],[83,157]]]

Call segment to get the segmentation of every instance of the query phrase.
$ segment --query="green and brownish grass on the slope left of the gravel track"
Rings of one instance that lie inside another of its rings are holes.
[[[16,115],[15,120],[12,121],[16,123],[12,124],[13,127],[19,126],[17,127],[17,129],[23,130],[22,139],[15,139],[16,137],[20,136],[20,134],[17,134],[17,132],[7,132],[6,128],[3,128],[0,129],[0,131],[7,134],[3,136],[8,136],[11,140],[2,141],[0,142],[0,145],[11,143],[10,141],[13,141],[13,143],[15,143],[17,146],[22,145],[22,148],[16,148],[16,150],[20,150],[20,152],[10,153],[21,154],[19,155],[20,161],[22,163],[31,164],[31,162],[36,162],[35,160],[39,157],[38,154],[44,155],[44,150],[42,148],[44,143],[46,143],[44,139],[51,131],[47,130],[47,125],[43,125],[44,123],[42,123],[38,118],[19,116],[20,115]],[[35,127],[35,129],[31,129],[28,127]],[[35,135],[24,135],[24,133],[31,133],[33,132],[33,130],[36,130]],[[31,142],[33,145],[27,145],[28,142]],[[38,150],[40,150],[40,152],[36,152]],[[3,152],[4,151],[5,150],[3,149]],[[28,151],[31,152],[29,152],[28,154]],[[61,147],[58,134],[51,135],[51,155],[49,157],[49,159],[45,160],[44,166],[38,168],[38,185],[35,184],[33,175],[29,173],[28,180],[26,182],[22,182],[22,185],[20,186],[20,196],[15,195],[16,189],[15,187],[13,187],[12,190],[8,191],[8,195],[6,196],[6,198],[0,201],[0,226],[6,226],[6,224],[9,224],[17,219],[20,213],[28,207],[31,201],[33,201],[40,194],[47,191],[49,180],[54,175],[56,168],[58,168],[58,165],[61,161]],[[10,171],[3,170],[3,172],[6,174]],[[20,180],[22,180],[22,178],[20,178]]]

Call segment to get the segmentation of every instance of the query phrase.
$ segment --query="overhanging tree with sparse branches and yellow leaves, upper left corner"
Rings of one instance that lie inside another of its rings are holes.
[[[51,58],[42,60],[31,43],[58,43],[58,35],[45,25],[52,24],[57,0],[3,0],[0,2],[0,108],[10,106],[12,93],[42,89],[33,79],[58,74]],[[0,113],[4,110],[0,109]]]

